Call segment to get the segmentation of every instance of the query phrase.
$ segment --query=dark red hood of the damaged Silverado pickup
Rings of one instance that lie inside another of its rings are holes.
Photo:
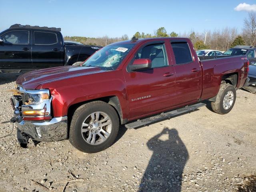
[[[54,82],[76,76],[106,72],[97,67],[61,66],[48,69],[34,70],[19,76],[16,84],[24,89],[36,89],[40,84]]]

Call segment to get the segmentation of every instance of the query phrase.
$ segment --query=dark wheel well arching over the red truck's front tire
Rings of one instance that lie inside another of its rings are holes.
[[[83,104],[92,102],[92,101],[103,101],[103,102],[106,102],[106,103],[110,104],[116,110],[120,123],[121,124],[126,123],[126,120],[123,119],[121,105],[120,105],[120,102],[119,102],[119,99],[118,99],[117,96],[107,96],[107,97],[97,98],[97,99],[94,99],[94,100],[88,100],[88,101],[85,101],[85,102],[80,102],[80,103],[76,103],[76,104],[71,105],[68,108],[68,122],[69,123],[71,122],[72,116],[73,116],[74,112],[76,111],[76,109],[78,107],[80,107]]]

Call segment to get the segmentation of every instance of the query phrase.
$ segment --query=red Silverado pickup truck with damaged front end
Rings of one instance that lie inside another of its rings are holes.
[[[99,152],[120,124],[143,126],[203,106],[201,100],[227,114],[248,65],[246,56],[200,62],[187,38],[133,38],[105,46],[81,66],[19,76],[12,121],[20,144],[69,139],[78,150]]]

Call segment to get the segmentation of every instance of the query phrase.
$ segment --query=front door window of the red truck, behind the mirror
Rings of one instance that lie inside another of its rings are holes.
[[[164,44],[152,44],[142,48],[135,59],[150,59],[152,68],[168,66]]]

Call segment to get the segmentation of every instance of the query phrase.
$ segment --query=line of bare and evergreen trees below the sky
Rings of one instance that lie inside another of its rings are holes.
[[[238,33],[237,28],[226,27],[222,30],[207,30],[200,33],[192,30],[189,33],[184,32],[182,34],[178,34],[174,31],[168,33],[164,27],[160,27],[155,30],[153,34],[136,32],[133,36],[135,36],[136,38],[186,37],[190,38],[196,50],[215,49],[225,51],[236,45],[256,46],[256,13],[248,13],[248,17],[244,19],[244,26],[240,33]],[[123,36],[116,38],[110,38],[108,36],[98,38],[65,36],[64,40],[76,41],[89,45],[106,46],[114,42],[128,40],[131,38],[129,38],[127,34],[124,34]],[[205,43],[204,40],[206,40]]]

